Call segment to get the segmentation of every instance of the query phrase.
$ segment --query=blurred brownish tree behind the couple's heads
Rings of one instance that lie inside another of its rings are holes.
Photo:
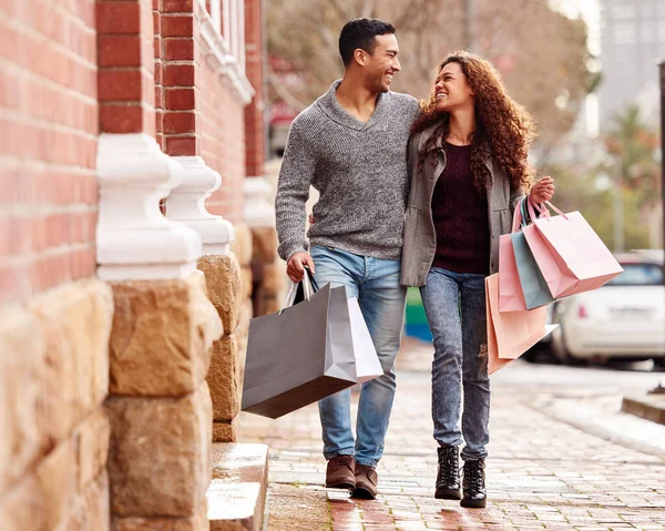
[[[461,49],[473,24],[472,51],[490,59],[510,94],[534,114],[541,142],[565,133],[591,85],[586,68],[586,27],[553,11],[544,0],[268,0],[268,45],[303,73],[299,91],[289,91],[299,108],[308,105],[341,76],[337,40],[356,17],[391,21],[400,42],[402,72],[393,89],[417,98],[431,91],[437,64]],[[278,76],[270,84],[284,95]]]

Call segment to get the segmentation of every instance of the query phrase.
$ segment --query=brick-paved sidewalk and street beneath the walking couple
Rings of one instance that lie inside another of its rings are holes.
[[[492,377],[489,503],[470,510],[433,498],[430,360],[427,345],[400,353],[374,501],[321,487],[316,406],[276,421],[243,415],[242,440],[270,446],[267,531],[665,530],[665,427],[618,412],[622,392],[665,372],[521,360],[502,369]]]

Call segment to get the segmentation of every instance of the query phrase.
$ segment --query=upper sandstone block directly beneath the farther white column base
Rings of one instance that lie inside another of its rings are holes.
[[[243,300],[241,266],[234,254],[204,256],[198,269],[205,275],[208,297],[222,318],[224,334],[233,334],[238,326]]]

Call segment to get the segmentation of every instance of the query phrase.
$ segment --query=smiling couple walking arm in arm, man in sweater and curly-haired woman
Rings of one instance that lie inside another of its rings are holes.
[[[499,236],[510,232],[518,202],[526,191],[535,203],[548,201],[554,185],[550,177],[532,185],[532,119],[488,61],[449,55],[438,67],[431,98],[419,104],[390,92],[401,68],[390,23],[348,22],[339,52],[344,78],[291,125],[276,197],[288,276],[299,282],[308,266],[318,285],[342,285],[358,297],[383,368],[362,385],[356,438],[350,391],[319,401],[326,486],[377,496],[407,287],[418,286],[434,344],[434,496],[484,507],[484,278],[498,269]],[[306,234],[310,185],[320,197]]]

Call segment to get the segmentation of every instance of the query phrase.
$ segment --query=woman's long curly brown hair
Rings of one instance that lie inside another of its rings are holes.
[[[437,70],[456,62],[462,69],[475,94],[475,131],[471,135],[471,171],[479,192],[485,191],[490,172],[484,159],[491,154],[509,175],[514,188],[529,191],[533,171],[528,163],[529,146],[535,136],[535,124],[529,112],[510,99],[494,67],[479,55],[466,51],[451,53]],[[424,143],[419,164],[437,150],[439,139],[444,141],[450,131],[450,114],[436,110],[436,89],[429,100],[421,102],[422,113],[411,126],[411,134],[437,125],[434,134]],[[443,144],[441,142],[441,144]],[[439,145],[441,145],[439,144]],[[433,160],[436,164],[436,159]]]

